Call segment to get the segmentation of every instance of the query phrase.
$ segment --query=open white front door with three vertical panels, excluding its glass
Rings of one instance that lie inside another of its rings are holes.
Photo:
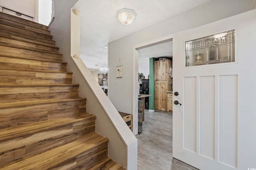
[[[186,66],[185,42],[235,29],[235,61]],[[173,35],[173,157],[256,169],[256,10]]]

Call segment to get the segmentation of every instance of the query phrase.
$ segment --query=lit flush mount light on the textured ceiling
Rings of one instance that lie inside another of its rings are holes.
[[[116,18],[118,18],[118,21],[123,25],[129,25],[132,23],[136,15],[137,14],[134,10],[123,8],[122,10],[117,11]]]

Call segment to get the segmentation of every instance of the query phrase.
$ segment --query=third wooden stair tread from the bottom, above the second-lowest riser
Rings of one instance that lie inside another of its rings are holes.
[[[32,133],[37,133],[40,131],[45,131],[47,129],[62,127],[67,124],[83,121],[85,119],[90,119],[90,118],[95,118],[95,116],[88,113],[88,115],[81,118],[77,118],[77,119],[74,119],[71,117],[62,117],[57,119],[38,121],[35,123],[26,124],[26,125],[0,129],[0,142],[6,141],[9,139],[14,139],[17,137],[22,137],[25,135],[30,135]]]

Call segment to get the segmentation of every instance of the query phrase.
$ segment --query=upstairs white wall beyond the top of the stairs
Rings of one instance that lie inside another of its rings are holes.
[[[0,0],[0,6],[33,18],[37,17],[37,3],[38,0]]]

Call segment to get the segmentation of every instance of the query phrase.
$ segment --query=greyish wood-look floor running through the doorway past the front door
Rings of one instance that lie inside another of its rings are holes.
[[[197,170],[172,157],[172,115],[145,110],[138,139],[138,170]]]

